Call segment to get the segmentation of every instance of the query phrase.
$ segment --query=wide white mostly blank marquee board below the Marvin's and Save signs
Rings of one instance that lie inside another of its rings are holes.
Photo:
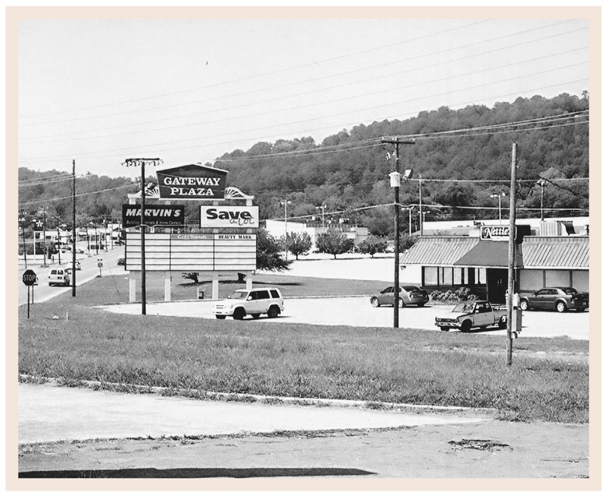
[[[147,271],[255,270],[255,234],[145,234]],[[141,233],[126,232],[126,270],[141,271]]]

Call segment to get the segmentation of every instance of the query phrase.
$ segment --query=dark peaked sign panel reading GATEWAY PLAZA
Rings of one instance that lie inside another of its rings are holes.
[[[161,200],[223,200],[227,170],[185,165],[158,171]]]

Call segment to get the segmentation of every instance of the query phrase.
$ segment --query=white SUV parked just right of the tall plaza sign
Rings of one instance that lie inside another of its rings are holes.
[[[282,311],[284,311],[284,299],[279,289],[274,287],[237,289],[213,306],[213,314],[220,320],[227,316],[242,320],[247,314],[251,314],[252,318],[256,319],[260,318],[263,313],[266,313],[269,318],[276,318]]]

